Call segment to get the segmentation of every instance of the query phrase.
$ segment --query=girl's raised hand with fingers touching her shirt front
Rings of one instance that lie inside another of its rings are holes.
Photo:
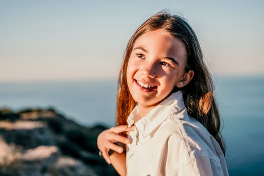
[[[102,131],[97,137],[98,149],[102,152],[102,155],[108,164],[111,164],[109,158],[109,150],[113,150],[118,153],[123,152],[123,148],[114,144],[115,142],[121,142],[123,144],[129,144],[130,140],[120,133],[134,130],[134,126],[128,127],[127,125],[120,125],[112,127],[110,129]]]

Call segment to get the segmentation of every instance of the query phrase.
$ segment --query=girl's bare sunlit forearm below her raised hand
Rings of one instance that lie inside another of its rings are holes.
[[[118,174],[125,176],[127,172],[126,168],[126,154],[114,152],[111,156],[111,164],[116,169]]]

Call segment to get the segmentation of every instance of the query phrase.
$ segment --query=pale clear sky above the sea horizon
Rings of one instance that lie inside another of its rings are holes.
[[[0,0],[0,81],[117,78],[130,37],[164,9],[192,26],[213,75],[264,74],[264,1]]]

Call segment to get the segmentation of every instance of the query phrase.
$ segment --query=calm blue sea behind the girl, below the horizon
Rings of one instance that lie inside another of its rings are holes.
[[[264,175],[264,75],[216,76],[230,175]],[[0,82],[0,108],[54,108],[91,127],[115,125],[116,79]]]

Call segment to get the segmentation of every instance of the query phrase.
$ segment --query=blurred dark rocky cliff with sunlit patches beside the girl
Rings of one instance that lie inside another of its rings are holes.
[[[0,109],[0,175],[118,175],[98,156],[104,129],[81,126],[54,109]]]

